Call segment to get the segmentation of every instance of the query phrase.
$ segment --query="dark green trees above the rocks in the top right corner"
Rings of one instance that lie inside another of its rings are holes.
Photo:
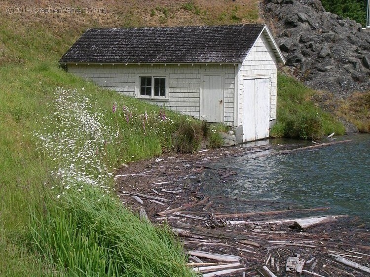
[[[326,11],[356,20],[366,25],[368,0],[321,0]]]

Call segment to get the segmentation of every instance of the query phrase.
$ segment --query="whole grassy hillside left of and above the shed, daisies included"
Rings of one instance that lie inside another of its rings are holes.
[[[35,12],[49,6],[105,13]],[[103,90],[57,61],[90,27],[256,21],[257,0],[1,1],[0,276],[188,275],[172,235],[122,211],[107,188],[115,168],[170,148],[191,119]],[[124,229],[125,222],[141,227]]]

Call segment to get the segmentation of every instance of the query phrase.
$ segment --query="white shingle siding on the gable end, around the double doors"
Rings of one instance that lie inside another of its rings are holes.
[[[239,70],[239,92],[238,92],[238,124],[243,124],[243,78],[259,78],[259,76],[270,76],[270,116],[276,119],[276,92],[277,92],[277,60],[269,44],[266,33],[263,32],[256,40],[249,55],[244,60]]]

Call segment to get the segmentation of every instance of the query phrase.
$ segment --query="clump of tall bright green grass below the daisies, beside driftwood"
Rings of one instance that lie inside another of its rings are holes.
[[[47,194],[32,212],[35,250],[67,276],[190,277],[182,245],[92,186]],[[56,201],[57,200],[57,201]]]

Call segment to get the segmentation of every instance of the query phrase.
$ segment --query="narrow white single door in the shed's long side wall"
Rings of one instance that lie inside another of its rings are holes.
[[[223,75],[202,74],[200,118],[223,122]]]

